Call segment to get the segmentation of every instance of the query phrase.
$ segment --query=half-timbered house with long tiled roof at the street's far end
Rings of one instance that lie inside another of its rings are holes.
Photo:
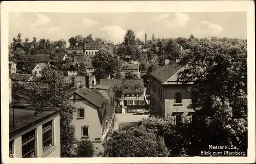
[[[117,106],[122,106],[122,113],[130,113],[134,108],[144,108],[143,79],[100,79],[100,85],[123,89]]]

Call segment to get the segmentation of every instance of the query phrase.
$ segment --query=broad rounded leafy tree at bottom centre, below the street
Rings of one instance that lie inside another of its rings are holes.
[[[143,126],[114,131],[103,148],[103,157],[164,157],[169,153],[163,138]]]

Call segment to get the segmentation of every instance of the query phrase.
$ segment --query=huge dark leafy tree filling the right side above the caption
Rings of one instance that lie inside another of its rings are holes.
[[[189,48],[178,80],[194,82],[188,91],[196,93],[197,103],[191,108],[202,125],[194,130],[194,148],[200,141],[197,149],[231,144],[247,151],[247,43],[199,40]]]

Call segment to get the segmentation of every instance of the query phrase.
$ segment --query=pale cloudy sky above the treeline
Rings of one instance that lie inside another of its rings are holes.
[[[18,33],[22,39],[68,39],[72,36],[99,37],[114,43],[123,41],[128,29],[144,40],[186,37],[247,38],[246,12],[171,13],[10,13],[9,42]]]

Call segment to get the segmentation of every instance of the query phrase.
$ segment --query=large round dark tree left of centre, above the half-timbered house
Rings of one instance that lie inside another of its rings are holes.
[[[92,65],[95,68],[97,78],[106,78],[120,71],[121,62],[116,56],[112,56],[109,50],[99,49],[93,57]]]

